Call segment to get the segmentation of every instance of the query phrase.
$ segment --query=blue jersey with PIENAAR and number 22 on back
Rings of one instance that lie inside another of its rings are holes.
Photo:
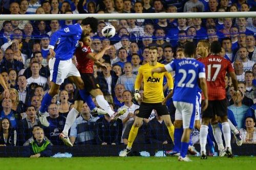
[[[196,103],[199,78],[205,78],[204,64],[193,58],[175,59],[164,66],[167,71],[175,71],[173,100]]]

